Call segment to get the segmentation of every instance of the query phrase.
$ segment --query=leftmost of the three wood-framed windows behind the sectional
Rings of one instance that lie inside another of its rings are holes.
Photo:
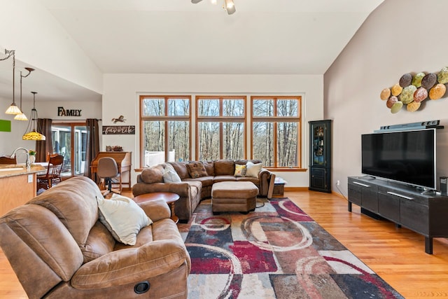
[[[190,160],[190,96],[142,96],[141,167]]]

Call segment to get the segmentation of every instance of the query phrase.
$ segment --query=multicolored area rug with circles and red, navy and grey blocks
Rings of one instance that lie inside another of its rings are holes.
[[[206,200],[179,230],[188,298],[403,298],[288,198],[214,216]]]

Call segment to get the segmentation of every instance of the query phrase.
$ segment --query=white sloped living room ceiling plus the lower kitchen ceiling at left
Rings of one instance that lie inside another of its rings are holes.
[[[104,74],[324,74],[384,0],[234,0],[233,15],[222,1],[41,0]],[[58,99],[89,92],[39,76]]]

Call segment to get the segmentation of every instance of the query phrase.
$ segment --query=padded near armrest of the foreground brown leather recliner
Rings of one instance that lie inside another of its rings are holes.
[[[71,279],[73,288],[90,290],[142,281],[188,263],[183,242],[166,239],[138,248],[120,249],[82,265]]]

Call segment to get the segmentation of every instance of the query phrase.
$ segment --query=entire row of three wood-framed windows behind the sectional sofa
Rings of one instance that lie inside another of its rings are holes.
[[[269,169],[302,168],[300,96],[251,96],[249,102],[246,96],[197,95],[194,111],[191,99],[140,97],[141,167],[253,158]]]

